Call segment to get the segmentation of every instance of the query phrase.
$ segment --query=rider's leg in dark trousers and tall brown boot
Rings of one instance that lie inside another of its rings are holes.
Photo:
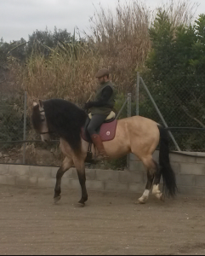
[[[96,131],[98,127],[102,125],[102,123],[105,121],[105,119],[106,119],[105,115],[94,114],[87,128],[88,133],[94,143],[94,146],[98,149],[98,152],[99,152],[97,160],[103,160],[108,157],[107,154],[105,153],[105,148],[103,146],[101,138]]]

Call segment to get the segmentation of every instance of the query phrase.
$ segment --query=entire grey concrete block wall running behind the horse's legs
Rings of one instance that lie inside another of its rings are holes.
[[[192,153],[192,156],[170,154],[171,166],[182,194],[205,195],[205,158],[199,158],[199,155],[203,156],[203,153]],[[153,157],[158,161],[157,151]],[[129,171],[86,169],[87,189],[143,193],[145,167],[134,154],[130,154],[129,158]],[[54,188],[57,170],[58,167],[52,166],[0,164],[0,184]],[[75,168],[65,172],[62,189],[80,189]]]

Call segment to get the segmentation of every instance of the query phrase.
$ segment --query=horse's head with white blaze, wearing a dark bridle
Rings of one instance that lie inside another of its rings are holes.
[[[42,141],[48,142],[50,140],[49,129],[42,101],[33,102],[32,124],[34,129],[41,134]]]

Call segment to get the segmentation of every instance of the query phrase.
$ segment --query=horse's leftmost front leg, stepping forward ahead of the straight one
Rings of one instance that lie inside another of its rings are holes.
[[[73,165],[73,161],[71,159],[68,159],[65,157],[65,160],[62,163],[62,166],[60,166],[58,172],[56,173],[56,183],[54,188],[54,202],[60,201],[60,184],[61,184],[61,178],[63,177],[64,173],[71,168]]]

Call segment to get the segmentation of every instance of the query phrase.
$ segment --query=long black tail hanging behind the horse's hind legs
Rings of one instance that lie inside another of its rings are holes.
[[[176,177],[169,162],[169,148],[168,148],[168,131],[161,125],[158,125],[160,131],[159,143],[159,167],[163,178],[163,190],[165,195],[176,195],[177,185]]]

